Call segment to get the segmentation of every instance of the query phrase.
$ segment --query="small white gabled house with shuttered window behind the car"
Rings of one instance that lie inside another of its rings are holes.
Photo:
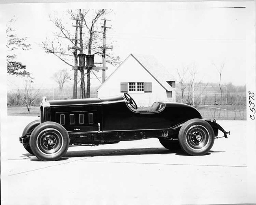
[[[129,93],[138,107],[175,102],[175,80],[154,56],[130,54],[96,90],[98,97]]]

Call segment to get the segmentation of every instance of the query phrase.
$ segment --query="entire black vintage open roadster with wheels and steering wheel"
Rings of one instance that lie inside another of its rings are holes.
[[[137,110],[128,94],[79,100],[46,99],[40,120],[29,123],[20,137],[24,148],[40,160],[58,160],[69,146],[102,145],[127,140],[158,138],[167,149],[182,148],[189,155],[210,151],[218,131],[230,132],[215,120],[203,119],[192,106],[154,102]]]

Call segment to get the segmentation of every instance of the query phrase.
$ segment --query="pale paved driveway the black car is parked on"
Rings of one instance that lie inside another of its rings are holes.
[[[169,151],[158,139],[70,147],[39,161],[19,142],[36,117],[7,116],[1,138],[2,204],[217,204],[254,200],[248,190],[246,121],[219,121],[231,132],[205,156]],[[2,121],[1,121],[2,122]]]

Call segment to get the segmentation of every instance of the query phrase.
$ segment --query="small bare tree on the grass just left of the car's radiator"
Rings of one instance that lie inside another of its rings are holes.
[[[27,107],[28,113],[30,113],[30,109],[31,109],[30,106],[36,100],[41,90],[40,89],[35,90],[33,88],[33,79],[30,77],[24,78],[23,82],[24,82],[24,91],[20,91],[20,89],[17,88],[18,96],[21,103]]]

